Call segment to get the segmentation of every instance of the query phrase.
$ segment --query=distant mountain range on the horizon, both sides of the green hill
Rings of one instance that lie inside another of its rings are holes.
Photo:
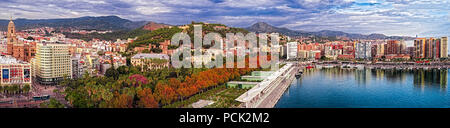
[[[0,20],[0,30],[6,30],[9,20]],[[64,19],[23,19],[14,20],[16,29],[29,29],[36,27],[55,27],[55,28],[75,28],[75,29],[95,29],[95,30],[134,30],[142,28],[144,30],[156,30],[169,27],[171,25],[156,23],[151,21],[131,21],[118,16],[100,16],[100,17],[79,17]],[[256,33],[278,32],[287,36],[320,36],[320,37],[348,37],[350,39],[414,39],[413,37],[386,36],[383,34],[352,34],[342,31],[322,30],[318,32],[308,32],[301,30],[291,30],[288,28],[278,28],[265,22],[258,22],[250,27],[244,28]]]

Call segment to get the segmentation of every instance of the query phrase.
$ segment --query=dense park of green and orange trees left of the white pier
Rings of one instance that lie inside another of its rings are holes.
[[[156,66],[165,63],[156,59],[151,62]],[[176,100],[184,100],[254,70],[165,67],[141,72],[138,68],[134,66],[121,66],[117,70],[110,68],[105,73],[106,77],[89,76],[86,73],[83,79],[67,81],[64,90],[66,100],[76,108],[154,108]],[[8,89],[8,92],[13,92],[9,90],[11,89]]]

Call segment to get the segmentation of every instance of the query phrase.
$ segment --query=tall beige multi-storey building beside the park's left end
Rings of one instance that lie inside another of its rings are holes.
[[[38,83],[56,85],[64,77],[72,77],[72,60],[69,44],[38,43],[36,57],[32,60]]]

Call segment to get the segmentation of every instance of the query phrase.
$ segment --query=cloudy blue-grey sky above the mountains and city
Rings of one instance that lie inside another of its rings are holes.
[[[450,0],[2,0],[0,19],[116,15],[173,25],[248,27],[391,36],[450,36]]]

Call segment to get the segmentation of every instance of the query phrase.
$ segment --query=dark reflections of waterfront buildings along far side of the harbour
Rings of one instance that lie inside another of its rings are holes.
[[[355,82],[360,87],[366,87],[375,81],[387,81],[389,83],[400,83],[405,85],[408,77],[413,79],[413,86],[423,90],[426,87],[440,88],[441,91],[447,90],[448,70],[396,70],[396,69],[342,69],[342,68],[326,68],[326,69],[308,69],[305,70],[304,76],[310,76],[319,71],[325,77],[324,79],[333,78],[340,80],[345,77],[353,76]]]

